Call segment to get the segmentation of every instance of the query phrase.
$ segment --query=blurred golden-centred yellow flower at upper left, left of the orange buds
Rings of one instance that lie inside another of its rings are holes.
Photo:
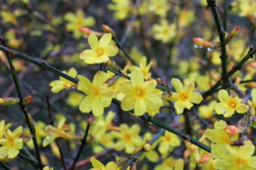
[[[96,22],[93,17],[84,17],[84,12],[81,9],[77,10],[76,14],[68,12],[65,14],[64,18],[69,22],[66,24],[66,30],[73,31],[73,37],[76,39],[82,36],[82,33],[79,31],[80,27],[91,27],[94,26]]]

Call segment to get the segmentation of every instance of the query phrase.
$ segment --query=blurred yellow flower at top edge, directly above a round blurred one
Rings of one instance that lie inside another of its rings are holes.
[[[150,0],[149,1],[149,11],[154,12],[154,14],[160,17],[166,17],[167,12],[171,8],[167,0]]]

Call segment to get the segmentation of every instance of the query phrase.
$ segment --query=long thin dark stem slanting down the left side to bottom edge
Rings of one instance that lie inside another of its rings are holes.
[[[6,42],[3,40],[2,37],[1,37],[1,39],[2,39],[3,44],[6,46]],[[1,47],[4,47],[4,46],[1,45]],[[8,49],[6,47],[4,47],[4,48]],[[29,131],[33,135],[32,140],[33,140],[33,143],[34,143],[34,146],[35,146],[35,153],[36,153],[37,158],[38,158],[38,165],[39,165],[40,169],[43,169],[43,165],[42,165],[42,161],[41,161],[41,156],[40,156],[40,151],[39,151],[39,147],[38,147],[38,142],[37,142],[36,137],[35,137],[35,129],[32,127],[32,124],[31,124],[31,122],[29,120],[29,114],[26,111],[26,105],[23,105],[23,102],[22,102],[23,96],[22,96],[22,93],[21,93],[21,90],[20,90],[20,85],[19,85],[19,82],[18,82],[18,79],[17,79],[15,68],[14,68],[14,66],[12,64],[12,60],[11,60],[11,58],[9,56],[10,53],[8,52],[8,50],[5,51],[5,52],[6,52],[6,57],[8,59],[9,65],[10,65],[11,74],[12,74],[13,81],[15,83],[17,94],[18,94],[19,99],[20,99],[20,108],[23,111],[23,114],[25,116],[26,123],[27,123],[27,125],[29,127]]]

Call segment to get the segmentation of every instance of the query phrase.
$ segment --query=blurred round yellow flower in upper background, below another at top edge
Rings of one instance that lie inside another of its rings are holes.
[[[161,20],[160,24],[152,26],[153,37],[155,40],[168,43],[176,35],[175,24],[168,24],[167,20]]]

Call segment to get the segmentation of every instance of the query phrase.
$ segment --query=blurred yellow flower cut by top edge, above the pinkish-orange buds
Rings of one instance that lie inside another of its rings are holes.
[[[130,0],[112,0],[115,4],[109,4],[108,8],[114,11],[114,19],[124,20],[128,17],[130,8]]]

